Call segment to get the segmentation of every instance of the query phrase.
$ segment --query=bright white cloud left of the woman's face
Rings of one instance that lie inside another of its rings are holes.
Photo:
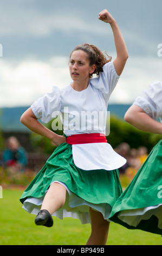
[[[0,65],[0,107],[28,106],[50,92],[53,85],[65,86],[70,79],[68,59],[64,57],[50,59],[48,63],[1,59]]]

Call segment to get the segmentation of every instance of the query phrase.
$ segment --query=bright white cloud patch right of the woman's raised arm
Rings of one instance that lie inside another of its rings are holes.
[[[131,104],[153,81],[162,81],[162,58],[145,58],[129,56],[124,72],[112,93],[110,103]]]

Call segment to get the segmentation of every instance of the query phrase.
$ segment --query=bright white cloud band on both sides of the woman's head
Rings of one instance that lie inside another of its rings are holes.
[[[28,59],[20,63],[1,59],[0,65],[0,107],[29,106],[50,92],[52,86],[61,88],[71,81],[66,57],[53,57],[48,62]],[[162,81],[161,58],[129,57],[109,103],[132,103],[155,80]]]

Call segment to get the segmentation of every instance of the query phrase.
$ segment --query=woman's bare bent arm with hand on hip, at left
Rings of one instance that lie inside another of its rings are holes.
[[[38,135],[42,135],[51,140],[56,146],[61,143],[66,142],[66,138],[60,135],[57,135],[55,132],[47,129],[47,127],[43,126],[35,117],[31,108],[28,108],[25,111],[20,119],[21,123],[28,127],[29,130],[37,133]]]

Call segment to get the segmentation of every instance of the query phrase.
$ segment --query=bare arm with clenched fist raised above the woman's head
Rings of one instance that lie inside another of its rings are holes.
[[[112,27],[117,54],[116,58],[114,59],[114,67],[116,73],[118,74],[118,76],[120,76],[128,58],[128,51],[124,38],[115,19],[112,17],[111,14],[108,13],[106,9],[99,13],[99,20],[109,23]]]

